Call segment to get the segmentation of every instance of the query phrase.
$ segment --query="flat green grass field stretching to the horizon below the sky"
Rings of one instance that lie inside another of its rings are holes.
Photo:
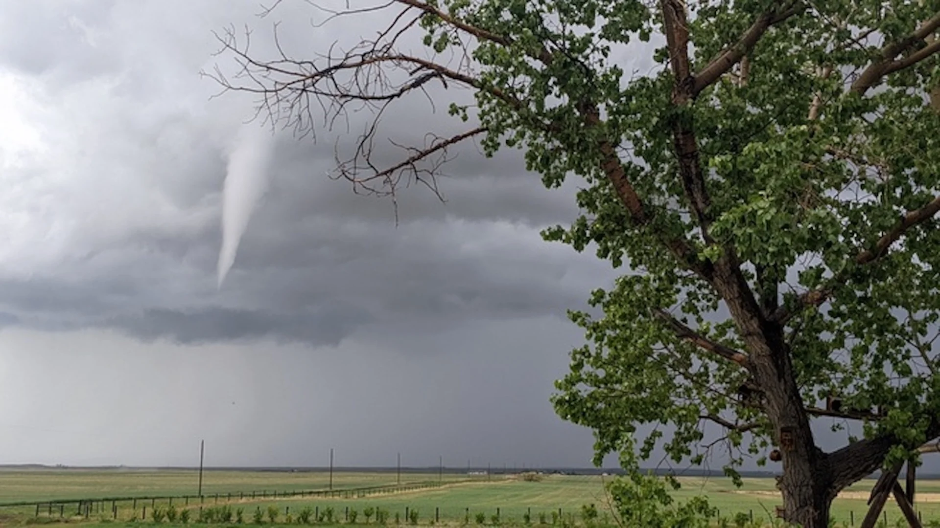
[[[402,483],[434,481],[437,474],[402,474]],[[317,509],[332,507],[337,512],[339,521],[345,520],[347,508],[360,512],[359,523],[364,521],[362,510],[366,506],[382,507],[391,514],[394,521],[398,512],[404,523],[405,508],[417,509],[420,523],[427,525],[434,520],[435,512],[441,522],[461,523],[469,513],[471,522],[477,513],[483,513],[489,522],[497,508],[501,520],[522,521],[530,511],[533,522],[538,522],[540,514],[551,521],[551,512],[559,508],[563,515],[577,514],[581,505],[594,504],[604,511],[607,499],[603,482],[610,477],[546,475],[539,482],[527,482],[512,475],[493,475],[491,477],[463,474],[444,474],[441,488],[419,489],[370,495],[365,498],[311,498],[288,497],[272,499],[270,494],[277,490],[325,489],[329,476],[326,473],[276,473],[276,472],[207,472],[203,481],[203,506],[231,504],[233,508],[243,508],[245,521],[250,522],[251,513],[260,507],[266,511],[274,506],[280,512],[281,520],[288,511],[296,515],[305,506]],[[195,494],[197,474],[194,471],[0,471],[0,503],[18,501],[76,500],[103,497],[144,497],[152,495]],[[334,489],[351,489],[395,484],[394,473],[337,473],[334,474]],[[855,524],[860,524],[867,509],[865,498],[867,490],[874,481],[863,481],[849,491],[859,498],[839,498],[834,505],[833,515],[839,523],[847,525],[854,512]],[[676,493],[679,500],[699,494],[706,495],[712,505],[720,510],[723,517],[732,517],[735,513],[753,513],[755,520],[769,519],[774,506],[780,499],[775,495],[773,479],[744,479],[743,489],[734,489],[724,478],[683,478],[682,490]],[[266,498],[238,499],[239,491],[265,490]],[[235,498],[227,498],[233,493]],[[216,499],[216,494],[219,498]],[[920,481],[917,483],[917,509],[923,519],[940,520],[940,481]],[[216,502],[218,501],[218,502]],[[167,501],[138,500],[136,509],[132,501],[118,502],[118,520],[139,519],[144,507],[152,511],[153,505],[166,505]],[[195,511],[199,507],[198,499],[187,503],[178,499],[174,503],[180,507],[188,505]],[[58,520],[60,510],[55,506],[52,520]],[[66,505],[61,510],[65,519],[76,518],[76,505]],[[769,513],[768,513],[769,512]],[[886,508],[889,525],[901,520],[901,512],[896,505],[889,503]],[[36,521],[34,506],[0,507],[0,524],[20,524]],[[48,520],[49,511],[41,508],[39,520]],[[84,526],[91,528],[102,521],[112,520],[111,504],[95,506]],[[372,520],[374,524],[374,519]],[[113,524],[112,524],[113,526]]]

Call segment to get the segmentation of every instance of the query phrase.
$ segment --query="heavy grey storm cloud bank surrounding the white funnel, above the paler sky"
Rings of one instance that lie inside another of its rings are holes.
[[[439,180],[446,201],[420,185],[402,188],[396,226],[390,199],[353,194],[347,182],[325,176],[337,138],[340,148],[351,147],[368,122],[360,115],[349,136],[278,136],[268,192],[217,291],[226,152],[250,101],[208,101],[218,86],[196,71],[225,58],[211,56],[211,30],[243,22],[263,29],[271,21],[211,3],[55,6],[40,3],[26,20],[42,31],[66,24],[66,35],[45,42],[15,27],[6,34],[4,42],[32,42],[35,62],[20,47],[0,47],[0,68],[39,88],[32,97],[45,118],[36,121],[42,145],[25,148],[8,169],[24,189],[14,205],[28,219],[13,244],[22,251],[11,249],[0,267],[8,286],[0,306],[11,324],[114,328],[181,343],[335,344],[388,319],[560,317],[610,276],[590,256],[540,241],[540,228],[576,217],[574,185],[545,190],[518,151],[485,159],[473,144],[451,149]],[[301,12],[300,4],[285,5],[279,20]],[[183,22],[169,24],[177,17]],[[288,29],[288,47],[328,40],[302,25]],[[270,52],[270,30],[258,33],[258,54]],[[92,65],[102,57],[106,67]],[[469,94],[438,88],[432,95],[442,106]],[[423,96],[402,100],[384,116],[383,133],[421,144],[429,131],[464,128],[432,110]],[[391,148],[380,161],[400,155]]]

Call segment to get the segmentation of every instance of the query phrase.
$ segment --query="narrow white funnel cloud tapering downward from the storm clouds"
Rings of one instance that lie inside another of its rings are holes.
[[[259,127],[245,126],[228,155],[222,202],[222,248],[219,251],[218,287],[235,263],[239,242],[251,213],[268,186],[268,166],[274,138]]]

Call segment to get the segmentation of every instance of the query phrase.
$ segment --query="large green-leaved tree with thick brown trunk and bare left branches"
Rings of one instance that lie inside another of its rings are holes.
[[[572,313],[588,344],[555,399],[595,431],[598,459],[658,446],[699,463],[713,423],[736,447],[732,467],[778,448],[784,518],[820,527],[840,489],[940,435],[940,2],[346,9],[336,16],[385,12],[387,24],[299,57],[258,56],[227,33],[242,69],[217,79],[300,132],[372,109],[337,157],[337,176],[359,190],[436,189],[447,149],[473,139],[487,155],[523,149],[547,187],[584,179],[583,214],[544,237],[596,247],[624,270],[593,294],[596,310]],[[415,33],[426,49],[402,44]],[[636,54],[649,68],[615,58]],[[379,165],[381,116],[431,84],[469,88],[474,100],[452,100],[450,113],[470,126]],[[820,415],[864,435],[826,452]],[[652,432],[641,443],[638,431]]]

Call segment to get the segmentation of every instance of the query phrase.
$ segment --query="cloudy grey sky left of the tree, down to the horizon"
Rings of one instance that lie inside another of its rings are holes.
[[[448,202],[409,189],[396,227],[391,202],[323,177],[329,134],[278,136],[217,289],[251,101],[210,100],[211,31],[247,23],[262,52],[275,20],[303,49],[342,31],[278,9],[0,1],[0,462],[192,464],[205,438],[212,465],[324,464],[331,446],[337,464],[587,465],[589,431],[549,396],[581,342],[565,310],[614,275],[540,240],[574,218],[573,186],[543,190],[517,153],[466,149]]]

